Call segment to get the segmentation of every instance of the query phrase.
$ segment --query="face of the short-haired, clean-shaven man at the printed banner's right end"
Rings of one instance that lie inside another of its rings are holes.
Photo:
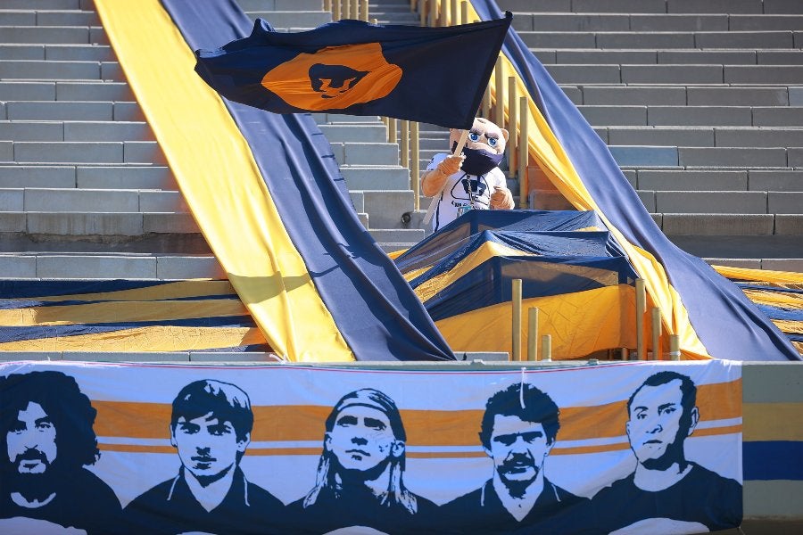
[[[644,386],[633,397],[626,431],[639,463],[682,453],[683,440],[690,432],[681,424],[682,401],[679,379],[659,386]]]

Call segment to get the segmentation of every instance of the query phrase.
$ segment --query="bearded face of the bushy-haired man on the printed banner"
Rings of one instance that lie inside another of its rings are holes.
[[[17,473],[45,473],[58,452],[55,438],[55,426],[45,409],[31,401],[5,435],[8,460]]]

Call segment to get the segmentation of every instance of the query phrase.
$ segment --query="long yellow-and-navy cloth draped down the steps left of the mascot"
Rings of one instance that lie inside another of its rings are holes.
[[[247,35],[236,2],[95,6],[198,226],[277,354],[454,358],[361,225],[314,119],[224,102],[193,72],[193,50]]]

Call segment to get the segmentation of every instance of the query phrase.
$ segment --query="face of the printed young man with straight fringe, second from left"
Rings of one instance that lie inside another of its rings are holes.
[[[249,436],[245,439],[237,440],[234,425],[220,422],[209,413],[192,420],[179,417],[171,443],[178,449],[186,470],[200,480],[215,480],[236,465],[237,454],[248,447]]]

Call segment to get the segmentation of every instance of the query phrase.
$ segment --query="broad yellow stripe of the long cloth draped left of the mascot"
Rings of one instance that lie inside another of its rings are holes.
[[[251,149],[158,0],[95,0],[178,186],[228,279],[277,353],[354,356],[287,235]]]

